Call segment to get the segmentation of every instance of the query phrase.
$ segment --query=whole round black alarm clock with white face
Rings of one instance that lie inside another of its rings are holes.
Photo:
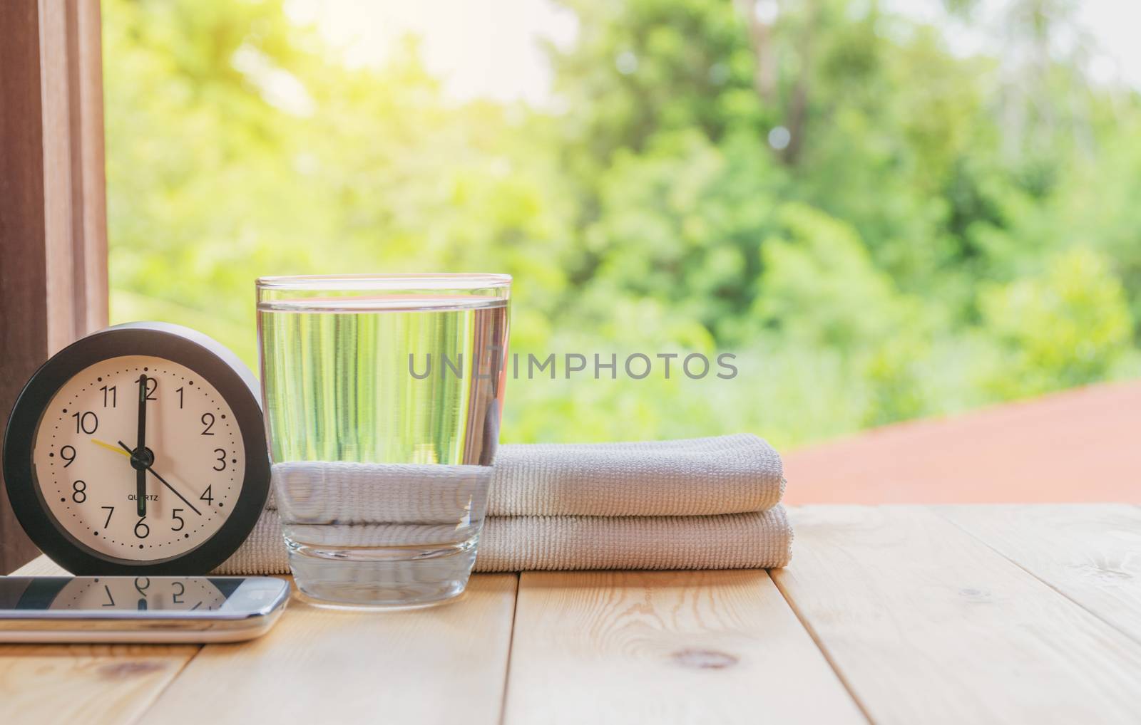
[[[44,362],[8,418],[3,478],[27,536],[76,575],[204,575],[269,492],[252,373],[179,325],[131,323]]]

